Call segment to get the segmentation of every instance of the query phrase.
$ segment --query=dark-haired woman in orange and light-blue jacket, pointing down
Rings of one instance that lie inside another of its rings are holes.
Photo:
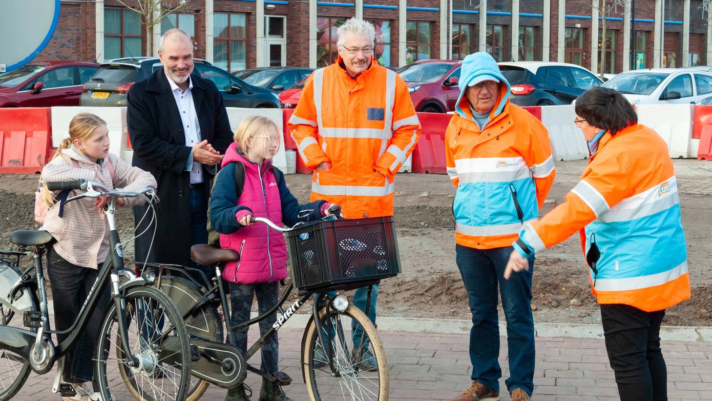
[[[668,147],[615,90],[587,90],[575,110],[588,166],[564,203],[524,224],[505,276],[580,231],[621,400],[667,400],[660,324],[666,308],[690,297]]]

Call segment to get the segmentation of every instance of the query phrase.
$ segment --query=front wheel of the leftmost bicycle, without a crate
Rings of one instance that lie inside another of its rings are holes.
[[[191,375],[188,332],[178,309],[152,287],[129,288],[124,296],[128,348],[125,355],[115,303],[101,325],[95,349],[95,375],[103,400],[184,400]]]

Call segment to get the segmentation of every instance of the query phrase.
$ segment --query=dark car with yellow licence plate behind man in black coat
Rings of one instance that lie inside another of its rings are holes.
[[[236,78],[231,73],[194,59],[194,73],[215,83],[223,95],[226,107],[281,108],[277,94],[258,88]],[[99,70],[85,83],[79,103],[83,106],[125,106],[126,95],[133,83],[148,78],[163,64],[155,57],[120,58],[102,63]]]

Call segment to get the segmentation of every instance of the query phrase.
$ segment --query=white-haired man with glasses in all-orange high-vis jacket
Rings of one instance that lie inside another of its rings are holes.
[[[373,60],[373,25],[350,19],[337,34],[337,62],[308,78],[288,130],[314,169],[312,199],[340,204],[347,218],[392,216],[394,175],[415,148],[420,122],[402,78]],[[368,314],[375,323],[373,289]],[[357,289],[354,304],[365,311],[366,303],[367,288]],[[354,343],[361,339],[355,330]],[[369,355],[359,366],[375,370]]]

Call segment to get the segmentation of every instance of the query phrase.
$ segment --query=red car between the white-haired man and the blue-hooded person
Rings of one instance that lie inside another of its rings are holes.
[[[396,71],[408,85],[416,111],[446,113],[455,110],[460,90],[459,61],[419,60]]]

